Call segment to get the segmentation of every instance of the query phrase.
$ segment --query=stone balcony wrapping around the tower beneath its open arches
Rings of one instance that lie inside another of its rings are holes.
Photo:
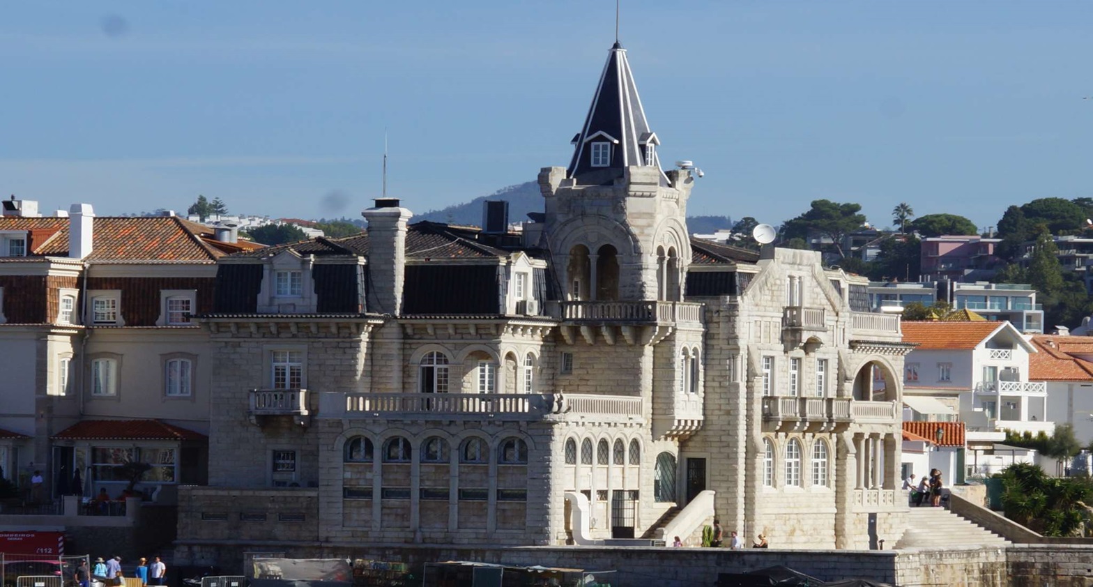
[[[702,328],[703,304],[691,302],[559,302],[548,312],[562,320],[567,343],[656,344],[674,328]]]

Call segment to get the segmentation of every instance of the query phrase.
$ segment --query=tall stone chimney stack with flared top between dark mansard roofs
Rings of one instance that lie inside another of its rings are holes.
[[[398,316],[402,313],[407,222],[413,213],[399,208],[398,198],[376,198],[376,206],[361,215],[368,221],[368,312]]]

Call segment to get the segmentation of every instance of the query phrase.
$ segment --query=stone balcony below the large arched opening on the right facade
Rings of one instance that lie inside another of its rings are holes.
[[[902,418],[894,401],[858,401],[850,398],[763,398],[763,421],[779,432],[826,432],[850,423],[890,424]]]

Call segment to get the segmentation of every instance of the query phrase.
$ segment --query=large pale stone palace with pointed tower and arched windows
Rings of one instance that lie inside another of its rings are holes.
[[[410,223],[216,260],[209,485],[177,556],[362,543],[587,544],[715,515],[784,548],[894,544],[897,316],[818,253],[689,236],[626,51],[543,212]]]

